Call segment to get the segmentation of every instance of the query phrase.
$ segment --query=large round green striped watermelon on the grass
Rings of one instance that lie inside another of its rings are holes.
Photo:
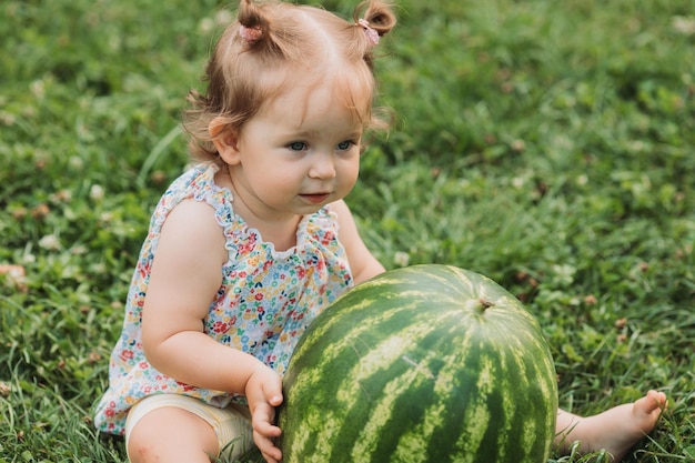
[[[541,463],[547,343],[521,302],[447,265],[393,270],[312,323],[284,378],[283,463]]]

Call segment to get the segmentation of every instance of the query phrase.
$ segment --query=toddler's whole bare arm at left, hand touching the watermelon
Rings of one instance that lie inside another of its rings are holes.
[[[148,361],[178,381],[245,394],[254,440],[266,460],[280,459],[271,423],[282,402],[280,376],[254,356],[203,333],[203,319],[222,282],[224,235],[212,209],[193,200],[177,205],[164,222],[142,311]]]

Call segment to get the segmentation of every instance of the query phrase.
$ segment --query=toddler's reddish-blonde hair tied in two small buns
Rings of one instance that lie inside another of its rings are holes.
[[[372,108],[374,41],[357,23],[360,19],[379,36],[395,26],[391,4],[382,0],[357,6],[354,22],[310,6],[241,0],[236,19],[220,37],[208,63],[205,94],[189,93],[192,108],[184,113],[183,127],[191,134],[192,160],[222,162],[210,123],[221,118],[226,130],[240,131],[264,104],[295,84],[296,76],[314,79],[310,84],[333,79],[334,98],[365,129],[387,127]]]

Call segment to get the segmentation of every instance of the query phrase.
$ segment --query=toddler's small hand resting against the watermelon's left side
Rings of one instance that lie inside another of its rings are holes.
[[[246,400],[251,411],[253,441],[268,463],[282,460],[282,452],[273,443],[282,434],[273,424],[275,406],[282,403],[282,380],[273,370],[263,365],[258,368],[246,382]]]

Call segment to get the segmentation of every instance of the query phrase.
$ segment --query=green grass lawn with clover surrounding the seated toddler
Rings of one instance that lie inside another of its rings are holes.
[[[0,275],[0,463],[124,461],[90,407],[223,3],[0,6],[0,265],[26,272]],[[349,198],[366,242],[387,268],[455,264],[524,300],[565,409],[665,391],[626,461],[693,461],[691,0],[399,6],[379,63],[396,124]]]

